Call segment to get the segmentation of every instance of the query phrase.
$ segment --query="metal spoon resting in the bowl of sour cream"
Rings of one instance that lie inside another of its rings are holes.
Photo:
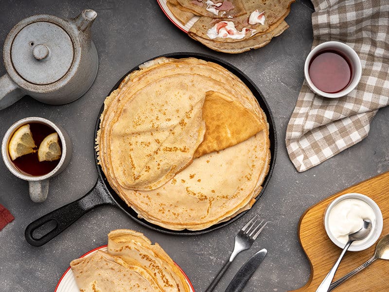
[[[330,288],[331,282],[334,279],[334,275],[336,273],[337,267],[340,264],[340,261],[342,260],[342,257],[349,249],[350,245],[355,240],[362,240],[368,237],[371,231],[371,221],[369,219],[363,220],[363,226],[361,229],[359,229],[357,232],[354,232],[352,234],[349,234],[349,241],[346,243],[346,246],[343,248],[342,253],[340,254],[339,258],[337,259],[334,267],[332,267],[331,271],[325,276],[324,280],[320,283],[318,289],[316,292],[327,292],[328,288]]]

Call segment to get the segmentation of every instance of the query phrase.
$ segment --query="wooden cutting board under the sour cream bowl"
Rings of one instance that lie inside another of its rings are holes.
[[[341,249],[332,243],[325,232],[323,218],[328,204],[340,195],[347,193],[361,193],[373,199],[380,207],[384,217],[381,237],[389,234],[389,172],[355,184],[312,206],[301,216],[299,223],[299,239],[311,264],[311,276],[304,287],[294,291],[315,292],[340,255]],[[334,280],[371,258],[374,249],[375,244],[364,251],[347,252],[340,263]],[[333,291],[389,292],[389,260],[376,260]]]

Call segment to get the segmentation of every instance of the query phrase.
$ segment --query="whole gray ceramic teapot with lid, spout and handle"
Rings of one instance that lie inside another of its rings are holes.
[[[7,74],[0,77],[0,110],[26,94],[61,105],[87,92],[98,68],[90,32],[96,17],[87,9],[70,20],[35,15],[15,25],[4,42]]]

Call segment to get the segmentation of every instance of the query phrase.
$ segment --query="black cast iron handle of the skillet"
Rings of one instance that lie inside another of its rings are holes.
[[[24,233],[27,242],[33,246],[42,246],[93,208],[107,204],[113,205],[114,201],[107,195],[107,192],[104,183],[99,178],[97,183],[84,197],[62,206],[30,223]],[[53,222],[55,227],[42,237],[36,238],[34,231],[49,222]]]

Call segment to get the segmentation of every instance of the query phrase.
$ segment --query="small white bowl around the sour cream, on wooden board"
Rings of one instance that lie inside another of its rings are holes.
[[[330,237],[331,241],[334,242],[335,245],[337,245],[340,248],[344,248],[345,244],[341,243],[339,240],[336,239],[336,237],[331,233],[330,228],[329,228],[329,223],[328,223],[328,218],[329,214],[332,210],[332,208],[340,201],[345,200],[345,199],[359,199],[361,201],[366,202],[373,210],[374,215],[375,215],[375,224],[373,224],[373,228],[371,229],[371,235],[369,235],[368,240],[363,242],[362,244],[358,244],[358,241],[354,241],[351,246],[349,247],[349,251],[351,252],[359,252],[363,251],[369,247],[371,247],[380,237],[381,232],[382,232],[382,227],[384,224],[384,219],[382,218],[382,213],[378,205],[375,203],[375,201],[371,200],[371,198],[358,194],[358,193],[350,193],[350,194],[345,194],[342,195],[338,198],[336,198],[334,201],[332,201],[324,214],[324,227],[325,231],[327,232],[328,237]]]

